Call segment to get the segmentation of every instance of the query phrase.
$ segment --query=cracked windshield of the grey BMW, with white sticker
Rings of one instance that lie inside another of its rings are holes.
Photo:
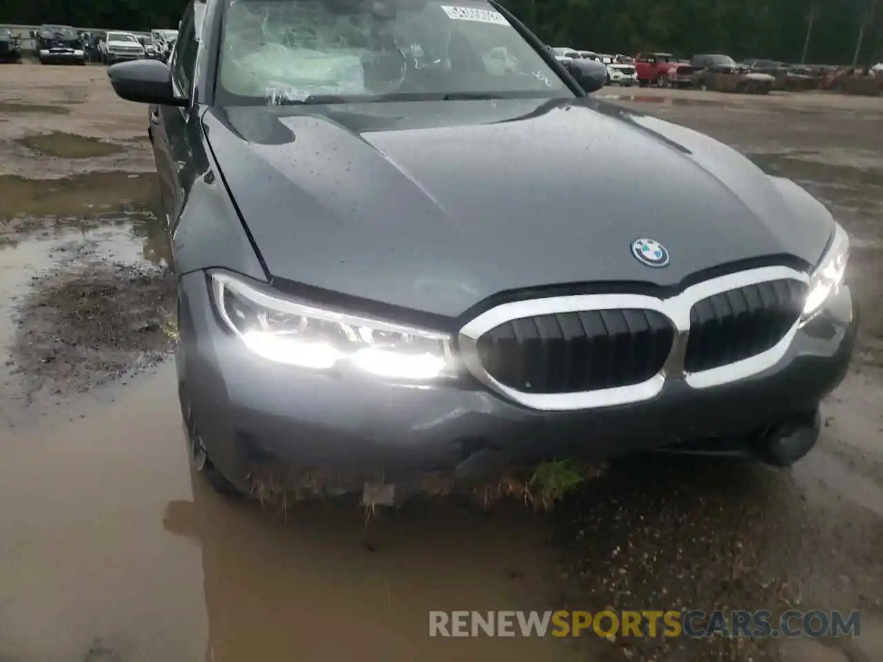
[[[573,95],[475,0],[230,0],[222,39],[222,105]]]

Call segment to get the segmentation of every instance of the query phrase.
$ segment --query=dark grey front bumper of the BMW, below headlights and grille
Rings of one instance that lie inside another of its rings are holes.
[[[403,386],[330,376],[253,355],[221,326],[205,275],[179,284],[182,405],[218,469],[240,487],[254,463],[376,475],[395,482],[452,470],[478,451],[517,463],[600,460],[696,440],[754,439],[813,411],[846,374],[857,310],[849,287],[801,328],[781,360],[751,378],[599,410],[530,410],[475,384]]]

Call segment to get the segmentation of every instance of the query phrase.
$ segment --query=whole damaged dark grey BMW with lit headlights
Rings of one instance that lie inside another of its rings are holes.
[[[502,76],[365,58],[339,3],[270,4],[194,0],[171,68],[108,70],[152,104],[177,393],[215,489],[364,500],[426,472],[653,449],[788,466],[816,444],[857,311],[849,237],[810,193],[587,100],[499,4],[347,6],[403,43],[505,48]],[[323,34],[313,79],[293,26]]]

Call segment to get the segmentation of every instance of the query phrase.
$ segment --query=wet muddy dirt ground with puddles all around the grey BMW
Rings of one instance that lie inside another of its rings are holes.
[[[598,94],[795,178],[849,229],[860,345],[811,455],[623,461],[551,514],[417,504],[366,546],[357,508],[283,520],[192,477],[147,109],[100,67],[0,72],[3,662],[883,659],[883,101]],[[434,609],[608,606],[860,609],[862,636],[427,634]]]

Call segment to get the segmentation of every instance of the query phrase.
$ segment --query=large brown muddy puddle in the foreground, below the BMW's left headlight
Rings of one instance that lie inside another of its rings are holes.
[[[162,367],[114,405],[4,448],[0,622],[22,659],[82,658],[96,638],[126,662],[576,659],[551,637],[428,636],[429,610],[555,606],[528,510],[384,513],[374,552],[356,508],[273,520],[191,477],[174,384]]]

